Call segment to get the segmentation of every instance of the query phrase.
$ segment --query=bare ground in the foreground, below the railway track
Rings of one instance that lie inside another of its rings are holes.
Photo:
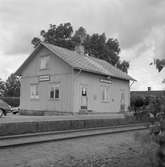
[[[147,130],[0,149],[0,167],[151,167]]]

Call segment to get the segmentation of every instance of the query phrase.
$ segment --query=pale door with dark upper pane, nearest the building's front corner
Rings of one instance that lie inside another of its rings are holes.
[[[87,85],[80,85],[80,109],[88,109],[88,89]]]

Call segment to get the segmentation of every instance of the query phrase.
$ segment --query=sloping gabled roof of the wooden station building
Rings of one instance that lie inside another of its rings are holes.
[[[33,55],[37,52],[37,50],[39,50],[41,46],[46,47],[48,50],[57,55],[74,69],[81,69],[86,72],[112,76],[124,80],[135,80],[128,74],[122,72],[121,70],[117,69],[104,60],[97,59],[91,56],[80,55],[76,51],[68,50],[48,43],[41,43],[33,51],[33,53],[22,64],[22,66],[16,71],[17,75],[21,75],[24,67],[30,62]]]

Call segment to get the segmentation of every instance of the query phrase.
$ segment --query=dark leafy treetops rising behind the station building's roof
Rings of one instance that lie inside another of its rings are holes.
[[[83,45],[85,54],[106,60],[124,72],[127,72],[129,68],[127,61],[120,60],[118,40],[107,39],[105,33],[89,35],[82,26],[74,32],[71,23],[64,23],[60,25],[50,24],[47,31],[41,30],[40,36],[41,39],[38,37],[32,39],[34,47],[37,47],[42,41],[70,50],[74,50],[78,45]]]

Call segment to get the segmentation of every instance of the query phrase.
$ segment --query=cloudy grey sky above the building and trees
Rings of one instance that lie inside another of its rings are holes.
[[[137,80],[131,90],[165,89],[165,69],[158,73],[149,65],[165,58],[164,0],[0,0],[0,78],[30,55],[31,40],[42,29],[65,22],[119,40],[120,57]]]

